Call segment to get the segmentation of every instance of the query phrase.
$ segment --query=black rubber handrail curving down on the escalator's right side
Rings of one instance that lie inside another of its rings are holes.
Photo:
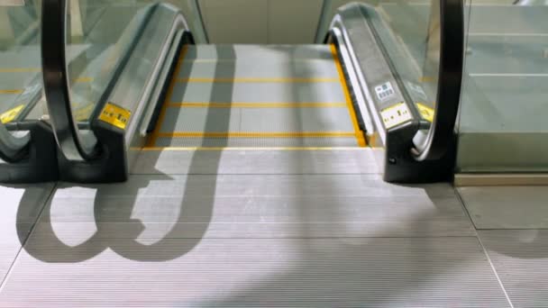
[[[464,66],[464,5],[440,1],[440,64],[434,122],[422,144],[411,150],[419,161],[442,159],[454,142]]]

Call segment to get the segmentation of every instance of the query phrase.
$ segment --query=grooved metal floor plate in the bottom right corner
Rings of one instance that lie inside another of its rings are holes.
[[[548,231],[479,231],[516,308],[548,307]]]

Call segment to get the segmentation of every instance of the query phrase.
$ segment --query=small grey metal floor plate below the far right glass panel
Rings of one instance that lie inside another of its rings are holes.
[[[458,189],[478,229],[548,229],[548,191],[545,187]]]

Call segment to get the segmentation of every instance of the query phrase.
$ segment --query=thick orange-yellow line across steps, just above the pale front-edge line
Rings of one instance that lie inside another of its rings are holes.
[[[353,131],[280,131],[280,132],[201,132],[175,131],[159,132],[163,138],[341,138],[354,137]],[[150,146],[150,145],[149,145]]]

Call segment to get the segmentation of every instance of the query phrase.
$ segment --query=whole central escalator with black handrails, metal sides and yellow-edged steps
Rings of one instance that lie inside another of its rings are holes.
[[[381,148],[389,182],[452,176],[464,45],[459,0],[434,9],[422,70],[369,5],[340,8],[325,40],[312,45],[196,44],[178,8],[153,5],[84,122],[75,118],[67,82],[66,5],[44,1],[42,9],[61,180],[125,181],[143,151],[226,149]]]

